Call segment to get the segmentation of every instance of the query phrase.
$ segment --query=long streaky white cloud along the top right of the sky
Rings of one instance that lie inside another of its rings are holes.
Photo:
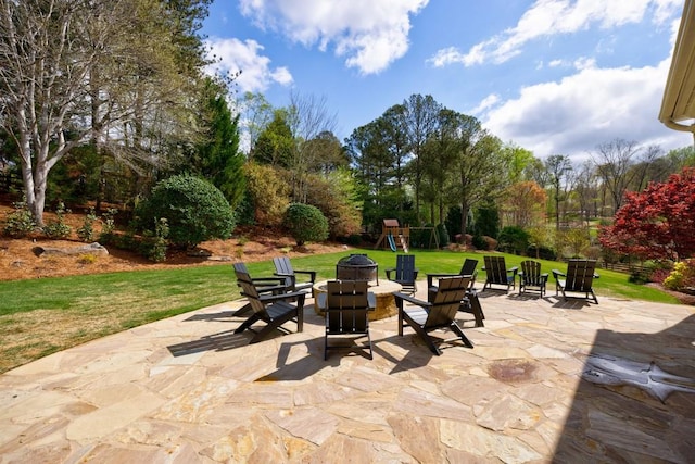
[[[472,46],[463,53],[455,47],[439,50],[428,61],[435,66],[460,63],[472,66],[486,62],[503,63],[522,52],[527,42],[559,34],[618,27],[643,21],[652,7],[653,22],[661,24],[672,17],[682,0],[536,0],[515,27]]]

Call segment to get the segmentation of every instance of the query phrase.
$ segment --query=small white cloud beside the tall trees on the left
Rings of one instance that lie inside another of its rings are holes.
[[[210,54],[219,61],[211,66],[212,72],[220,74],[237,73],[235,80],[241,91],[262,92],[270,84],[289,86],[292,75],[287,67],[271,67],[270,59],[264,57],[263,46],[255,40],[212,38],[207,41]]]

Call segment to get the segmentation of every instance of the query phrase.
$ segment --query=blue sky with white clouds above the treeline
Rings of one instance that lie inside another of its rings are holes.
[[[536,158],[616,138],[693,142],[657,118],[683,0],[216,0],[202,33],[241,92],[324,99],[342,141],[413,93]]]

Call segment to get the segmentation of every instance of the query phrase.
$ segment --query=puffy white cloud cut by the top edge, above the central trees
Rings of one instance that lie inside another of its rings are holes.
[[[408,50],[410,14],[429,0],[241,0],[240,9],[263,28],[345,58],[362,74],[386,70]]]

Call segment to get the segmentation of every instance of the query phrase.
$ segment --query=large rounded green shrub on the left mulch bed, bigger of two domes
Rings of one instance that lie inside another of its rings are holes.
[[[235,228],[235,215],[222,191],[211,183],[189,175],[159,183],[152,195],[136,209],[136,227],[166,218],[169,242],[193,248],[202,241],[226,239]]]

